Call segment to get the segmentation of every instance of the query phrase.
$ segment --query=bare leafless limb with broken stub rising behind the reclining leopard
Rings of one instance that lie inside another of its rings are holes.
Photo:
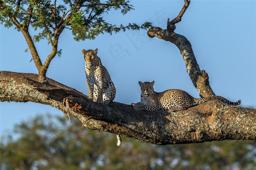
[[[181,55],[183,56],[183,60],[187,67],[188,75],[191,78],[193,85],[196,87],[200,96],[208,97],[211,95],[215,95],[209,85],[209,77],[207,73],[204,70],[202,70],[201,72],[199,65],[197,64],[191,43],[185,36],[176,34],[174,32],[176,28],[175,24],[181,21],[181,17],[183,16],[184,12],[186,11],[190,3],[190,1],[188,0],[184,1],[185,5],[182,7],[179,15],[176,18],[174,18],[171,22],[169,22],[168,18],[166,30],[163,30],[159,27],[151,27],[148,29],[147,34],[150,38],[156,36],[157,38],[164,39],[176,45],[180,50]]]

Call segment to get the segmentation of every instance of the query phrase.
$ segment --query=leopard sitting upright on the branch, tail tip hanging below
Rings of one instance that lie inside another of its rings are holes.
[[[86,61],[85,73],[89,98],[94,102],[108,105],[116,96],[116,88],[111,80],[108,70],[101,63],[97,56],[98,49],[82,49],[84,60]],[[117,146],[121,144],[120,135],[117,135]]]

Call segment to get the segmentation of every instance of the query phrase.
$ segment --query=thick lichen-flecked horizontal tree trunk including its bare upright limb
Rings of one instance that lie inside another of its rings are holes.
[[[200,70],[190,42],[176,34],[188,8],[185,1],[179,15],[167,29],[152,27],[148,36],[174,43],[181,51],[187,72],[203,97],[213,95],[207,73]],[[88,96],[50,78],[38,82],[37,74],[0,71],[0,101],[36,102],[51,105],[82,121],[83,126],[135,138],[153,144],[199,143],[213,140],[256,140],[256,109],[230,106],[218,100],[195,105],[185,111],[136,111],[130,105],[94,103]]]

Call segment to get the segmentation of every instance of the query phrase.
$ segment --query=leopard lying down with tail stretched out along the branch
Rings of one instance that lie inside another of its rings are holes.
[[[241,100],[231,102],[221,96],[193,98],[187,92],[178,89],[169,89],[157,93],[153,88],[154,81],[144,83],[139,81],[139,85],[142,91],[140,102],[131,104],[136,110],[158,111],[159,109],[168,109],[168,112],[183,111],[193,104],[200,104],[214,99],[219,99],[229,105],[239,105],[241,103]]]

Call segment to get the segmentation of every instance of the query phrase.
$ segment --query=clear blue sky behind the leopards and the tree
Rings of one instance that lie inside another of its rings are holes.
[[[135,10],[122,15],[111,11],[106,21],[142,24],[166,28],[167,18],[175,18],[184,1],[131,1]],[[176,24],[175,32],[191,42],[197,63],[209,75],[214,93],[230,101],[242,100],[241,107],[256,108],[256,2],[193,1]],[[0,70],[38,73],[26,41],[14,28],[1,29]],[[32,30],[31,30],[32,32]],[[147,30],[103,34],[95,40],[76,42],[68,30],[59,39],[62,56],[50,63],[47,77],[88,94],[82,49],[98,48],[98,56],[116,86],[114,101],[131,104],[140,101],[138,81],[155,81],[154,89],[182,89],[199,98],[178,48],[164,40],[149,38]],[[46,41],[36,43],[45,61],[50,54]],[[36,114],[63,115],[56,108],[37,103],[1,102],[1,135],[13,125]],[[64,116],[63,116],[64,119]],[[75,119],[74,117],[71,119]],[[67,120],[68,121],[68,120]]]

